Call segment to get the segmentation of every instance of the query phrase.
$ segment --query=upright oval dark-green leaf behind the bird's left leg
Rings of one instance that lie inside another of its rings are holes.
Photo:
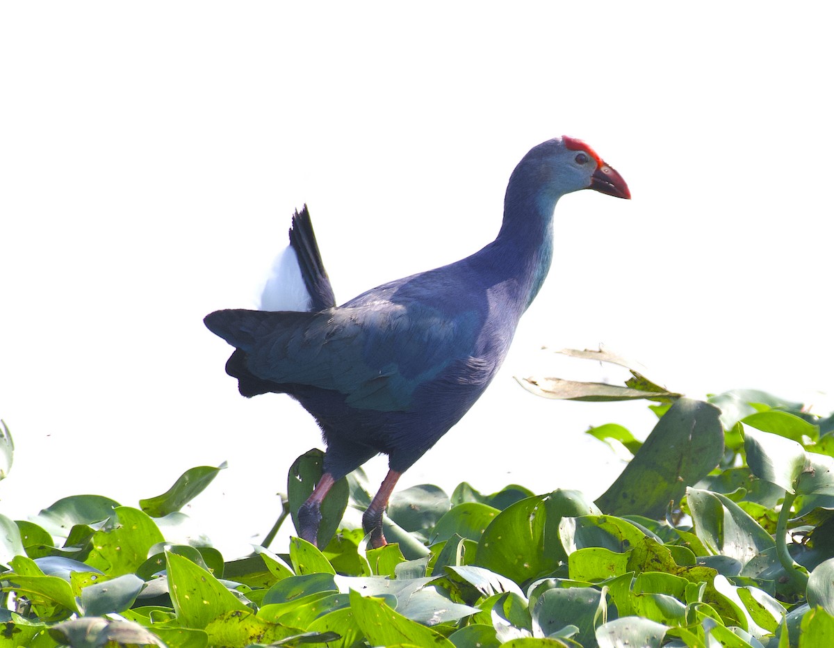
[[[313,493],[319,483],[324,466],[324,452],[318,449],[308,450],[299,456],[289,469],[287,476],[287,497],[289,510],[293,516],[295,529],[299,529],[299,507]],[[348,508],[350,487],[348,480],[337,481],[329,490],[321,504],[321,522],[316,544],[326,547],[342,522],[344,510]]]

